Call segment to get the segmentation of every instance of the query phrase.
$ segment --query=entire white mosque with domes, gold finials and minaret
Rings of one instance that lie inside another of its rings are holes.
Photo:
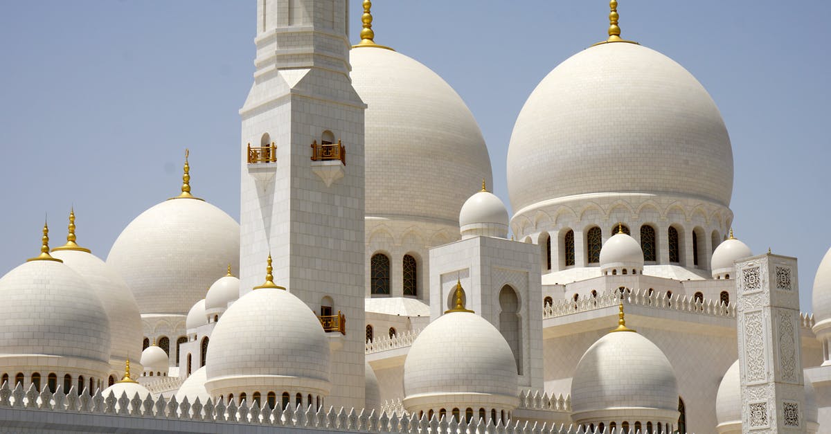
[[[258,1],[238,220],[186,153],[106,259],[45,224],[0,279],[0,431],[831,431],[831,250],[800,313],[731,229],[715,102],[610,6],[516,120],[509,215],[369,0],[356,45],[347,0]]]

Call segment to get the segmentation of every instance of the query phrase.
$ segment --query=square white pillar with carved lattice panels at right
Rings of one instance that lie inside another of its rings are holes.
[[[735,265],[742,432],[807,432],[796,259]]]

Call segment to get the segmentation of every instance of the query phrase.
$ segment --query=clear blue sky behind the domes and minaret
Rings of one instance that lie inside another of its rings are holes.
[[[256,2],[4,2],[0,14],[0,274],[52,245],[66,215],[106,258],[120,230],[179,192],[238,219],[239,116],[253,72]],[[710,91],[730,131],[736,236],[799,258],[802,308],[831,246],[828,3],[621,0],[622,36],[672,57]],[[361,2],[352,0],[352,41]],[[605,0],[376,0],[376,42],[443,76],[487,141],[509,203],[514,120],[559,62],[606,37]]]

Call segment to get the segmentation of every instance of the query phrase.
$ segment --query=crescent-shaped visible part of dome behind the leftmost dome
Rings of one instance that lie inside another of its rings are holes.
[[[86,279],[101,300],[110,320],[110,358],[120,368],[127,358],[141,353],[143,338],[139,305],[124,279],[96,255],[81,250],[52,251],[52,256]]]

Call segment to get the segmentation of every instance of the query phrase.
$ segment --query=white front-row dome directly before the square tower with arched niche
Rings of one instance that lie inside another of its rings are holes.
[[[513,410],[519,404],[514,353],[493,324],[450,312],[419,333],[404,362],[404,407]]]

